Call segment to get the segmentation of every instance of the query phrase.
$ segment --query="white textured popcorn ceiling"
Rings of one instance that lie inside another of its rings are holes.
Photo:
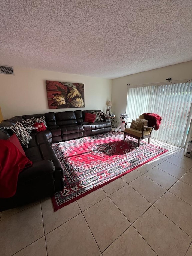
[[[191,0],[1,0],[0,64],[116,78],[192,60]]]

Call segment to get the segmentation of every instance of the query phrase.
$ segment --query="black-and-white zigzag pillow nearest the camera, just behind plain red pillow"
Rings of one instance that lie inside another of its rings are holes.
[[[16,134],[21,145],[27,148],[32,137],[29,135],[26,127],[24,127],[22,123],[17,122],[16,125],[11,126],[11,129]]]

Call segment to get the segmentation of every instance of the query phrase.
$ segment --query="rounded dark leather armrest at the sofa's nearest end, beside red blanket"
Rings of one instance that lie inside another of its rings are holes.
[[[39,176],[52,173],[55,170],[55,166],[51,160],[42,160],[33,163],[32,166],[25,168],[19,173],[18,184],[26,182],[31,179],[36,179]]]

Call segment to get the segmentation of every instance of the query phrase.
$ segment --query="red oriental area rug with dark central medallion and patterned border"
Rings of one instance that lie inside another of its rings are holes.
[[[55,211],[151,161],[167,150],[108,132],[53,143],[64,168],[64,190],[52,197]]]

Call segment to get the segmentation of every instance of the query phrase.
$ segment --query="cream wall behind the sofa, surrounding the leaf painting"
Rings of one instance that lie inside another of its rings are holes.
[[[0,106],[4,119],[17,115],[72,110],[107,110],[111,79],[13,67],[15,75],[0,74]],[[84,83],[85,107],[48,109],[46,80]]]

